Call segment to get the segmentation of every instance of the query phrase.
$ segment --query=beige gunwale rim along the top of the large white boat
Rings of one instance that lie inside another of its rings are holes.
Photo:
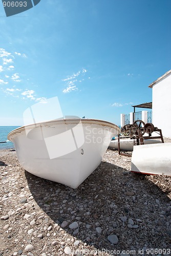
[[[25,130],[33,129],[37,127],[42,127],[48,125],[53,125],[53,124],[75,124],[75,123],[87,123],[87,124],[98,124],[98,125],[103,125],[103,126],[109,126],[113,129],[117,129],[118,133],[120,132],[120,128],[118,125],[111,123],[109,121],[104,121],[100,119],[88,119],[88,118],[63,118],[63,119],[53,119],[53,120],[48,120],[48,121],[41,121],[41,122],[36,122],[36,123],[31,123],[27,125],[20,126],[13,131],[11,131],[8,135],[7,138],[10,140],[10,137],[17,134],[17,133],[22,133]]]

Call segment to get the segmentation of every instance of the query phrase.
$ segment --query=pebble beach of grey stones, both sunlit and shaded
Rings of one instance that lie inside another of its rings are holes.
[[[133,174],[108,149],[77,189],[0,151],[0,255],[170,255],[171,178]]]

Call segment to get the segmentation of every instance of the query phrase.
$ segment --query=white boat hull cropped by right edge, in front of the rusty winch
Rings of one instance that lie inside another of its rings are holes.
[[[134,146],[131,172],[171,175],[171,143]]]

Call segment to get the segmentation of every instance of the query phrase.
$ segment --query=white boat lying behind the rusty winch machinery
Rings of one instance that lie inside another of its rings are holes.
[[[133,147],[137,145],[137,140],[135,139],[121,139],[120,142],[120,150],[121,151],[133,151]],[[154,140],[154,139],[144,139],[144,144],[156,144],[156,143],[162,143],[160,140]],[[140,144],[140,142],[139,142]],[[109,147],[118,150],[118,139],[115,138],[115,140],[111,140]]]

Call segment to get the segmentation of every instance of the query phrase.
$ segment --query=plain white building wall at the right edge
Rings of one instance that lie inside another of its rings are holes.
[[[152,122],[164,137],[171,138],[171,74],[153,86]]]

